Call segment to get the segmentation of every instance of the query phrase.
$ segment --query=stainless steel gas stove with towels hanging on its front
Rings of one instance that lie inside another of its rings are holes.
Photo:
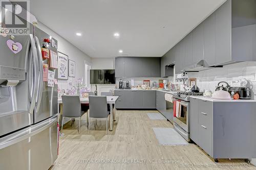
[[[189,116],[190,116],[190,96],[203,95],[202,92],[180,91],[173,94],[174,107],[174,129],[187,141],[190,141]]]

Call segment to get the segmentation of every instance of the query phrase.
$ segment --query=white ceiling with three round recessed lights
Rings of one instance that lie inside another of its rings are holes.
[[[30,9],[90,57],[161,57],[225,1],[32,0]]]

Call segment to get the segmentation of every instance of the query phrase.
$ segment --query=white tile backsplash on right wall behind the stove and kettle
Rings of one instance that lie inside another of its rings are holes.
[[[241,79],[247,79],[252,91],[256,91],[256,62],[254,61],[230,64],[222,68],[212,68],[197,73],[189,72],[187,75],[189,78],[197,78],[197,85],[200,91],[206,89],[215,91],[220,81],[226,81],[229,85],[232,85],[232,81]],[[256,99],[255,95],[254,99]]]

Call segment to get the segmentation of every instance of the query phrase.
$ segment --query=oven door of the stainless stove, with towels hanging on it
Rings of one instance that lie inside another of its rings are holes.
[[[189,102],[176,101],[176,114],[174,122],[189,133]]]

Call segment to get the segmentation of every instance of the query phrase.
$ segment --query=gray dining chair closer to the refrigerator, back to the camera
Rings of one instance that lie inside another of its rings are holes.
[[[81,117],[84,111],[81,110],[81,102],[78,95],[62,95],[62,129],[64,118],[79,118],[79,130],[80,133],[80,125],[81,125]],[[71,122],[72,123],[72,122]]]

